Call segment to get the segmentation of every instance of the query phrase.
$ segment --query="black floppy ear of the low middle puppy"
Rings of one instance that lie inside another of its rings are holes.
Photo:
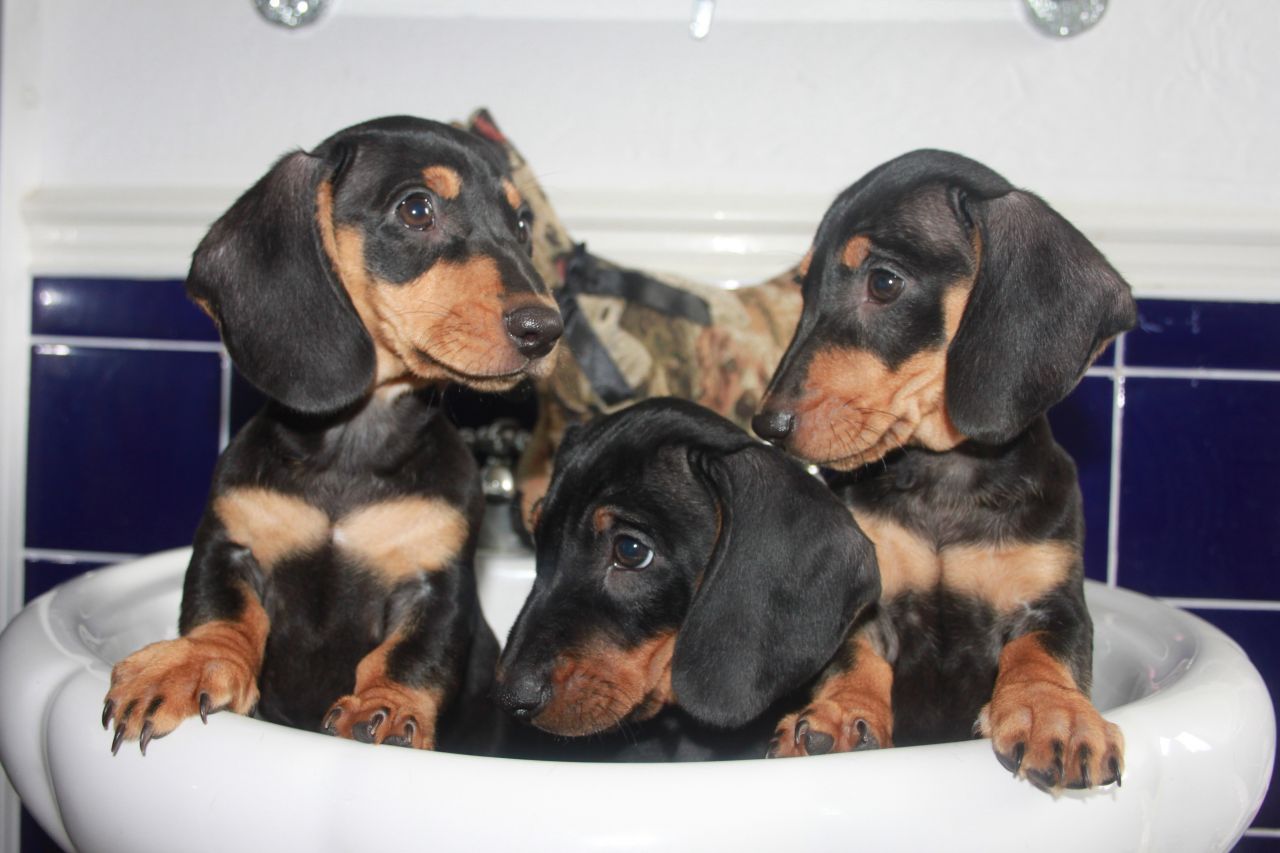
[[[690,456],[721,530],[676,637],[672,688],[694,717],[737,726],[818,674],[879,598],[879,571],[849,510],[781,452]]]

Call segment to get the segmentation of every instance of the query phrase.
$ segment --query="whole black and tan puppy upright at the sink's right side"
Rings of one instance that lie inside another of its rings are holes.
[[[1038,197],[915,151],[836,200],[803,289],[753,425],[847,473],[883,597],[777,753],[977,730],[1041,788],[1119,781],[1120,731],[1089,702],[1075,466],[1044,412],[1133,325],[1128,284]]]

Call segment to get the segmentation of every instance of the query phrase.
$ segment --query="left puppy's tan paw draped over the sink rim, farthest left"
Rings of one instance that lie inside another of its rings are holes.
[[[115,724],[111,753],[137,740],[142,753],[187,717],[216,711],[250,713],[257,704],[257,661],[234,629],[205,626],[152,643],[115,665],[102,706],[102,727]]]

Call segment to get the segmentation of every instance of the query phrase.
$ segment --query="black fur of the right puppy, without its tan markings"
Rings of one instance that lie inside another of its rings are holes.
[[[868,254],[851,268],[842,254],[855,236],[868,240]],[[872,298],[876,270],[905,282],[896,300]],[[965,280],[972,289],[948,339],[943,296]],[[937,555],[1036,543],[1074,553],[1060,585],[1011,612],[948,589],[945,578],[879,602],[868,631],[893,666],[895,740],[970,736],[1002,648],[1030,633],[1087,695],[1092,624],[1080,492],[1044,411],[1133,325],[1128,284],[1036,196],[960,155],[914,151],[840,195],[818,229],[803,287],[800,325],[753,421],[758,433],[792,448],[796,421],[806,416],[797,405],[820,352],[869,353],[893,382],[913,356],[945,348],[945,412],[959,443],[886,453],[876,442],[888,419],[872,412],[859,439],[879,452],[856,457],[861,466],[833,474],[833,485],[858,514],[905,528]],[[893,567],[882,557],[881,569],[888,579]]]

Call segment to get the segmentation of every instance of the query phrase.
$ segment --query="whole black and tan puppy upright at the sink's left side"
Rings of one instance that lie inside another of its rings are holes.
[[[484,505],[431,400],[550,371],[529,234],[497,149],[404,117],[284,156],[212,225],[187,288],[270,402],[218,462],[180,637],[111,674],[113,751],[223,708],[425,748],[462,727],[497,656]]]

